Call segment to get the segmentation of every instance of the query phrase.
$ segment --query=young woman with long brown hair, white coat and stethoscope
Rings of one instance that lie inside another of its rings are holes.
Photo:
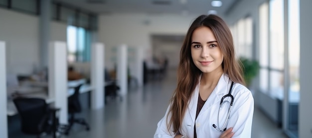
[[[197,17],[187,31],[177,87],[154,138],[250,138],[254,99],[241,72],[226,23],[216,15]]]

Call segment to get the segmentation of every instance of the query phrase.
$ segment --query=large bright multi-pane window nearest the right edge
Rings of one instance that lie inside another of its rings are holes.
[[[284,102],[282,124],[291,138],[298,138],[299,1],[269,0],[259,7],[259,87],[273,99]]]

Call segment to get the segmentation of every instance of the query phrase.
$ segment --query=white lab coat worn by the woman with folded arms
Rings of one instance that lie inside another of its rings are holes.
[[[228,75],[222,74],[220,77],[217,86],[212,91],[205,104],[203,105],[201,111],[196,117],[197,102],[199,95],[199,84],[196,86],[191,99],[189,101],[188,108],[185,111],[185,115],[181,124],[179,132],[183,136],[188,138],[194,138],[194,125],[196,125],[196,134],[197,138],[219,138],[222,132],[217,131],[212,127],[215,124],[220,129],[225,122],[225,118],[228,113],[228,108],[230,105],[230,98],[224,99],[224,104],[221,108],[219,114],[219,123],[218,122],[218,111],[220,107],[221,98],[228,94],[231,82]],[[251,137],[251,126],[252,118],[254,113],[254,99],[253,96],[245,86],[234,83],[232,88],[232,95],[234,97],[232,111],[230,113],[230,119],[226,124],[226,128],[233,127],[234,136],[232,138],[250,138]],[[170,105],[169,105],[170,107]],[[173,138],[176,134],[173,134],[172,128],[170,132],[167,130],[167,113],[165,116],[158,122],[157,129],[154,138]],[[168,120],[171,117],[171,114],[168,115]],[[172,127],[172,126],[171,126]]]

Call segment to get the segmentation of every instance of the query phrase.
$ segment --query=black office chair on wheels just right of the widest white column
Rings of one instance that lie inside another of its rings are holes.
[[[84,125],[87,131],[90,130],[89,124],[84,119],[75,118],[75,114],[81,112],[81,105],[79,101],[79,95],[80,95],[79,90],[81,86],[82,84],[75,87],[74,94],[68,97],[68,113],[69,113],[70,118],[68,120],[69,124],[68,124],[67,130],[64,133],[65,135],[69,134],[69,131],[71,130],[74,123]]]

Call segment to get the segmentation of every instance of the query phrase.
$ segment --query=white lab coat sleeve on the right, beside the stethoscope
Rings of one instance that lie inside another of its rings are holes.
[[[253,96],[251,92],[244,87],[234,96],[233,108],[227,126],[227,128],[233,127],[234,136],[232,138],[251,138],[253,113]]]

